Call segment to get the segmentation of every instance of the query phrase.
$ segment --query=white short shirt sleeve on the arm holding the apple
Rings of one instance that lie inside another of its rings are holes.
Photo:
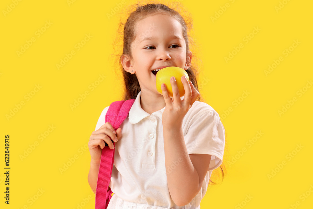
[[[199,112],[190,123],[184,136],[188,154],[210,154],[208,171],[218,168],[223,162],[225,129],[215,110]]]

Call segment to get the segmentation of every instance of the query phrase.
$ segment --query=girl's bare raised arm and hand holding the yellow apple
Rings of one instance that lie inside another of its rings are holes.
[[[181,100],[175,77],[173,78],[170,80],[173,99],[168,94],[167,86],[161,85],[166,103],[162,113],[165,168],[167,170],[167,185],[172,200],[177,206],[184,206],[190,203],[200,191],[211,156],[207,154],[192,156],[193,160],[202,162],[202,166],[198,166],[199,162],[192,162],[188,155],[182,132],[182,122],[200,93],[191,81],[182,76],[181,81],[184,85],[185,95],[184,99]]]

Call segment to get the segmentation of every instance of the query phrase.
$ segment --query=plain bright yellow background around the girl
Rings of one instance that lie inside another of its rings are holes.
[[[110,19],[106,16],[116,3],[121,1],[77,0],[69,5],[66,0],[28,0],[16,6],[11,0],[1,1],[1,208],[25,205],[32,209],[78,208],[88,196],[91,199],[82,208],[95,207],[95,195],[87,181],[90,154],[85,148],[101,111],[111,102],[121,100],[120,84],[109,58],[119,19],[117,14]],[[126,1],[131,3],[135,1]],[[209,188],[201,208],[290,208],[290,205],[312,208],[313,194],[309,189],[313,185],[313,88],[305,87],[313,78],[313,3],[303,0],[181,3],[192,14],[198,56],[203,62],[200,93],[223,116],[228,142],[228,153],[224,155],[227,175],[222,184]],[[221,10],[226,3],[229,7]],[[14,7],[11,10],[10,5]],[[284,7],[275,9],[279,5]],[[215,12],[220,16],[212,21]],[[35,33],[46,21],[52,24],[38,37]],[[251,35],[254,27],[260,30]],[[85,34],[92,37],[77,50],[75,44]],[[245,43],[243,39],[249,34],[253,38]],[[36,41],[18,56],[16,51],[32,37]],[[284,50],[294,40],[300,44],[285,56]],[[224,57],[241,43],[244,47],[226,63]],[[56,64],[71,50],[75,55],[58,70]],[[273,65],[280,56],[283,61],[266,76],[268,65]],[[89,86],[102,74],[104,81],[91,90]],[[41,86],[37,92],[35,85]],[[301,97],[300,90],[306,90]],[[89,95],[72,110],[70,104],[85,91]],[[244,91],[249,95],[240,98]],[[27,101],[24,96],[28,93],[35,94]],[[296,101],[288,106],[293,97]],[[6,115],[18,108],[21,101],[25,104],[7,119]],[[278,111],[283,106],[289,108],[280,115]],[[227,114],[230,107],[232,111]],[[51,130],[49,125],[55,127],[51,133],[47,132]],[[264,134],[249,147],[249,140],[259,136],[258,131]],[[44,133],[49,135],[38,140]],[[3,203],[7,134],[10,205]],[[38,146],[21,160],[20,155],[36,141]],[[296,149],[297,145],[303,148]],[[286,156],[292,152],[292,158]],[[59,168],[74,155],[78,159],[61,174]],[[232,159],[236,159],[234,163],[230,163]],[[286,163],[279,168],[283,160]],[[273,170],[278,172],[269,177]],[[40,189],[44,191],[42,195],[30,201]],[[308,196],[304,198],[301,195],[305,192]]]

